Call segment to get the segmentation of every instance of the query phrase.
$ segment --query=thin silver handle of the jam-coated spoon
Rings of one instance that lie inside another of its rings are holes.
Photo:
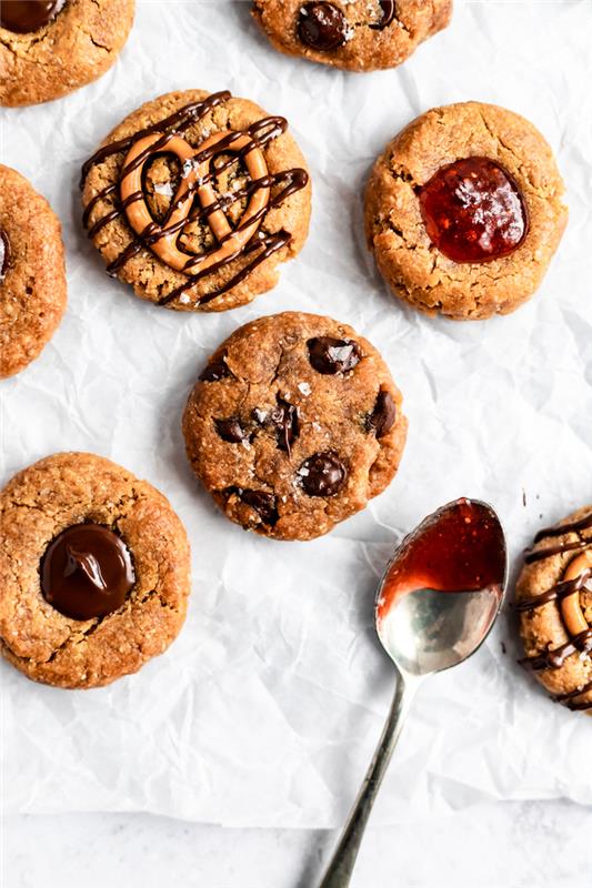
[[[403,723],[420,679],[404,678],[399,673],[394,698],[374,757],[365,774],[362,788],[343,827],[339,845],[327,868],[320,888],[347,888],[352,877],[355,858],[362,842],[370,811],[387,773]]]

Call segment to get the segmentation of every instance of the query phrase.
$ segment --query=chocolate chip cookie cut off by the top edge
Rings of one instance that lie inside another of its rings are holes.
[[[288,56],[344,68],[395,68],[450,22],[452,0],[253,0],[252,16]]]

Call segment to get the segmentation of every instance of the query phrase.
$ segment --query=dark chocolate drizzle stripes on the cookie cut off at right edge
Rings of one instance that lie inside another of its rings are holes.
[[[540,531],[534,537],[534,544],[543,539],[564,536],[569,533],[578,533],[592,527],[592,514],[585,515],[583,518],[571,522],[569,524],[560,524],[555,527],[545,527]],[[524,553],[524,561],[526,564],[532,564],[543,558],[552,557],[553,555],[561,555],[565,552],[583,552],[592,546],[592,539],[579,539],[572,543],[558,543],[556,545],[544,546],[542,548],[530,548]],[[535,595],[532,598],[525,598],[514,605],[514,609],[519,613],[535,610],[539,607],[544,607],[552,602],[561,603],[564,598],[575,595],[586,585],[588,581],[592,577],[592,569],[586,567],[573,579],[556,583],[546,592]],[[566,627],[565,627],[566,628]],[[590,655],[592,653],[592,628],[584,629],[560,645],[559,647],[543,650],[530,657],[523,657],[521,665],[526,666],[533,672],[542,672],[543,669],[560,669],[568,657],[573,654]],[[592,690],[592,682],[589,684],[570,690],[565,694],[559,694],[554,697],[558,703],[565,704],[570,709],[584,710],[592,709],[591,702],[578,702],[580,695],[586,694]]]

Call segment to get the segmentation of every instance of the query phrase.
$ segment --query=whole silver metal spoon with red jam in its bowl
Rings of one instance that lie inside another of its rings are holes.
[[[407,536],[379,585],[377,632],[398,674],[387,724],[320,888],[347,888],[365,825],[421,682],[485,640],[503,603],[508,553],[494,509],[455,500]]]

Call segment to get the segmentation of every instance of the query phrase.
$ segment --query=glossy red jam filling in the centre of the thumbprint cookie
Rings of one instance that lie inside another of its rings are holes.
[[[489,158],[442,167],[420,190],[428,236],[453,262],[491,262],[516,250],[529,229],[510,173]]]

